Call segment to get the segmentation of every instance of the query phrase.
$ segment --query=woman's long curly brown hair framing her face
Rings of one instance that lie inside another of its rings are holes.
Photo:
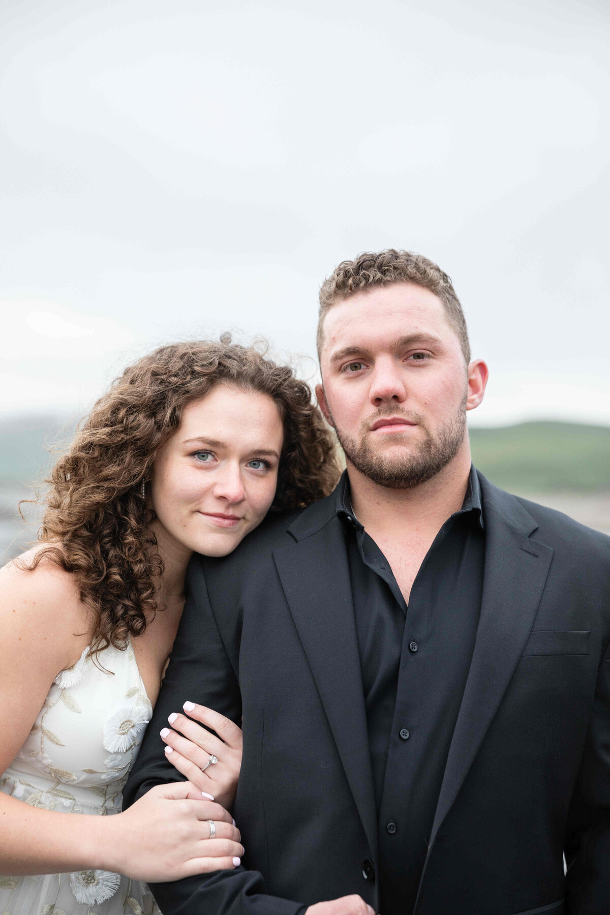
[[[47,556],[70,572],[94,613],[92,650],[124,647],[159,609],[163,573],[146,508],[160,446],[176,432],[187,404],[219,383],[273,398],[284,423],[284,448],[272,510],[303,508],[326,496],[340,473],[332,434],[305,382],[255,346],[223,335],[160,347],[117,378],[52,469],[39,540],[27,566]]]

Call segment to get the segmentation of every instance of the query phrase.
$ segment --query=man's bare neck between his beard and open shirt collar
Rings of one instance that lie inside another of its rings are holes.
[[[470,447],[466,440],[465,447],[436,476],[408,490],[380,486],[349,460],[347,465],[354,514],[373,539],[427,539],[462,508],[470,474]]]

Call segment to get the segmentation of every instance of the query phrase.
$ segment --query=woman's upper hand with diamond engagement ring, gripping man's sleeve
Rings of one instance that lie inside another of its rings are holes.
[[[166,757],[199,791],[229,809],[240,778],[241,728],[205,705],[185,702],[182,707],[188,717],[174,712],[167,719],[173,730],[164,727],[161,731]],[[218,737],[191,718],[216,731]],[[218,762],[209,764],[210,757]]]

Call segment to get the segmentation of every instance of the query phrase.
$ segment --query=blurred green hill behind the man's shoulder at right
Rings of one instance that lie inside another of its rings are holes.
[[[610,491],[610,427],[605,425],[471,428],[470,442],[476,467],[503,489]]]

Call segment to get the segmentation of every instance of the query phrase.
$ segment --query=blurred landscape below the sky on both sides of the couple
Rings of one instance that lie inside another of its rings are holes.
[[[52,414],[0,420],[0,565],[36,542],[51,463],[76,422]],[[610,534],[610,427],[551,420],[469,430],[473,461],[487,479],[524,499]],[[29,481],[32,485],[28,485]]]

